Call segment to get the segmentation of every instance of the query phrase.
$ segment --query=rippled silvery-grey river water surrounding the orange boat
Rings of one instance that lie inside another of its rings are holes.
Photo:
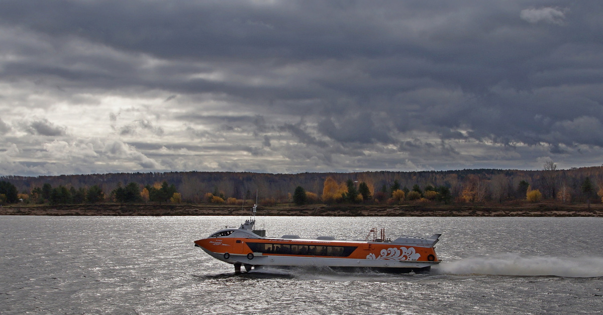
[[[443,233],[428,275],[235,275],[193,241],[245,217],[0,217],[2,314],[596,314],[601,218],[266,217],[268,235]]]

